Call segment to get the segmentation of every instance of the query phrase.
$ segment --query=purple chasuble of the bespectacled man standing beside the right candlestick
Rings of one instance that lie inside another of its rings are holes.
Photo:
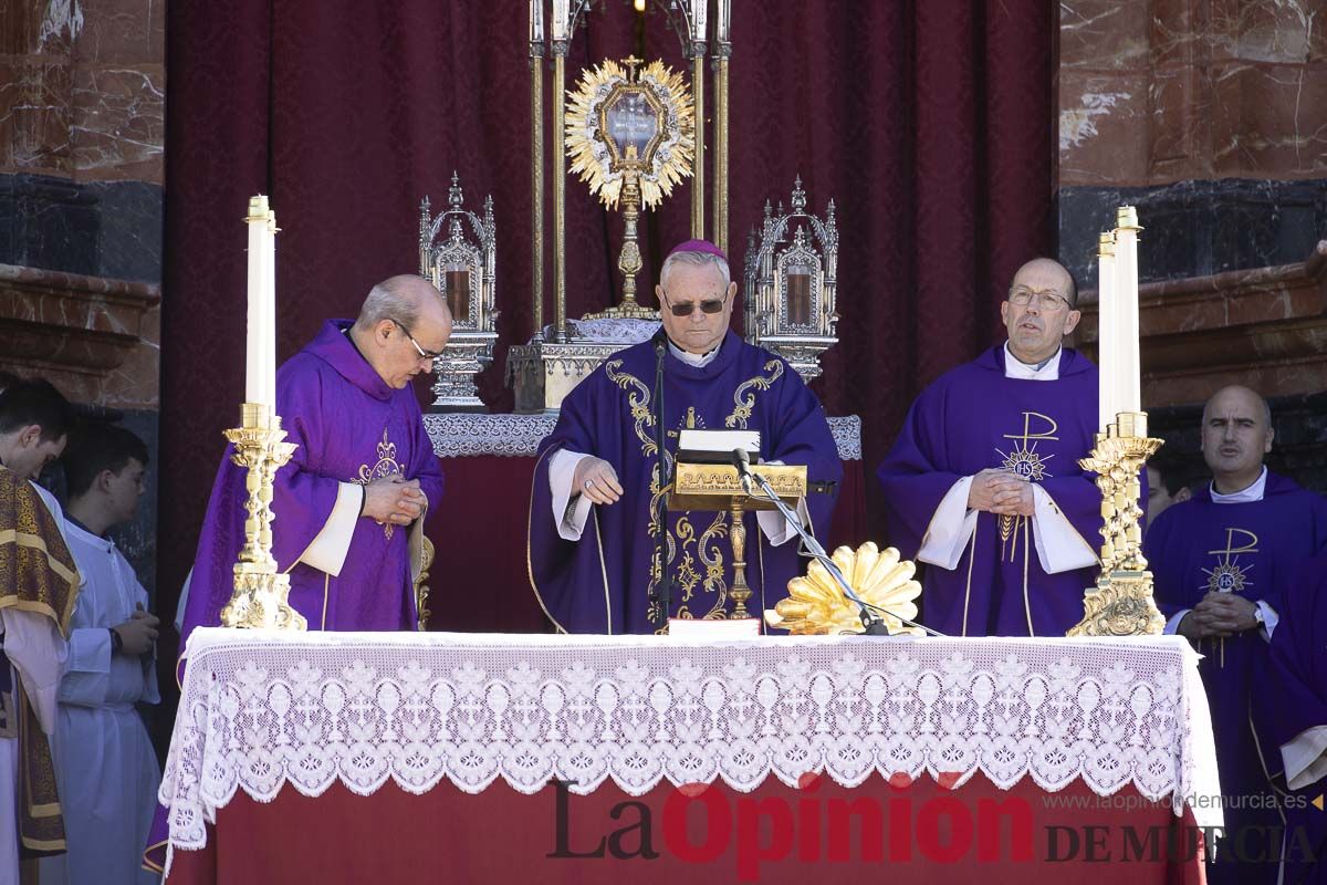
[[[1058,381],[1005,377],[1005,348],[991,348],[926,387],[877,476],[888,535],[916,559],[936,508],[963,476],[1011,470],[1040,486],[1093,552],[1101,544],[1101,494],[1079,467],[1096,433],[1097,372],[1060,352]],[[1143,496],[1147,500],[1147,494]],[[982,512],[953,569],[924,565],[922,622],[949,636],[1064,636],[1083,618],[1096,569],[1042,569],[1032,520]]]

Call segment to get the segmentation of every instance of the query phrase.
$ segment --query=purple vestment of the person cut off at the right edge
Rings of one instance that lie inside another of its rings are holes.
[[[1308,728],[1327,727],[1327,548],[1300,568],[1282,597],[1281,624],[1267,650],[1266,690],[1253,697],[1253,722],[1273,774],[1282,772],[1282,744]],[[1327,778],[1292,791],[1285,805],[1286,882],[1327,885],[1327,812],[1314,807]],[[1312,858],[1316,857],[1316,864]]]

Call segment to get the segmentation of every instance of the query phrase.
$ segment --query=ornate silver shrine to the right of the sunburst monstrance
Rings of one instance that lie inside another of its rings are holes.
[[[766,200],[759,238],[754,228],[747,235],[746,337],[811,381],[820,374],[820,354],[839,342],[839,228],[833,200],[824,222],[807,212],[800,175],[791,207],[786,214],[780,202],[775,212]]]

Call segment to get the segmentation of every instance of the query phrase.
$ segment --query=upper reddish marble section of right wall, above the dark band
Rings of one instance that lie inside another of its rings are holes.
[[[1063,0],[1059,184],[1327,176],[1327,0]]]

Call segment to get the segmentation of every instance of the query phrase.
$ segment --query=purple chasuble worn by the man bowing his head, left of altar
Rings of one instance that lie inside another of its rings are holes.
[[[276,373],[276,410],[295,455],[275,479],[272,555],[291,575],[291,605],[311,630],[409,630],[417,624],[409,527],[360,517],[341,573],[300,563],[332,515],[340,483],[366,484],[389,474],[418,479],[437,507],[442,472],[410,387],[394,389],[330,320]],[[199,537],[182,645],[195,626],[220,624],[244,544],[245,470],[227,447]]]

